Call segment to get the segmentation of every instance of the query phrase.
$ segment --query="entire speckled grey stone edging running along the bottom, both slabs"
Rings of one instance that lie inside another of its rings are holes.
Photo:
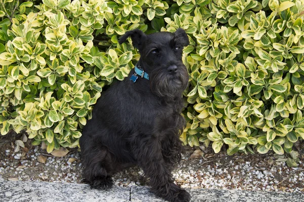
[[[304,202],[303,193],[263,192],[227,189],[188,189],[191,201],[216,202]],[[86,184],[52,183],[32,181],[6,181],[0,177],[0,201],[47,201],[47,202],[159,202],[148,187],[113,187],[109,190],[90,189]]]

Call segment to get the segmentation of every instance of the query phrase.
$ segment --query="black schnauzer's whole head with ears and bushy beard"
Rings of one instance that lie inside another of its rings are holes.
[[[186,32],[157,32],[146,35],[135,29],[126,32],[119,43],[131,37],[140,53],[139,65],[149,74],[150,88],[159,96],[177,96],[188,85],[188,72],[182,63],[182,49],[189,44]]]

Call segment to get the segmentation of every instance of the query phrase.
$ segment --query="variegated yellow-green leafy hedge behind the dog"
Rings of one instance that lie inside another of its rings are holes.
[[[181,27],[190,39],[184,144],[282,155],[304,138],[304,1],[42,2],[0,12],[3,135],[26,130],[48,152],[79,146],[102,88],[139,59],[131,44],[118,44],[120,35]]]

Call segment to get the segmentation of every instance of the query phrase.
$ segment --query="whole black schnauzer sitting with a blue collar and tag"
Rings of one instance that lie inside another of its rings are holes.
[[[106,188],[113,173],[139,165],[156,195],[189,201],[171,174],[181,158],[179,135],[185,126],[180,113],[188,72],[181,58],[187,34],[181,28],[149,35],[136,29],[119,42],[129,36],[141,57],[127,78],[102,94],[83,129],[84,177],[92,187]]]

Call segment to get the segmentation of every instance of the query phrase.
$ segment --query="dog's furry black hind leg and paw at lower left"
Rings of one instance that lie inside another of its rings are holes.
[[[113,185],[112,157],[105,146],[86,147],[82,150],[82,158],[85,182],[96,189],[110,188]]]

